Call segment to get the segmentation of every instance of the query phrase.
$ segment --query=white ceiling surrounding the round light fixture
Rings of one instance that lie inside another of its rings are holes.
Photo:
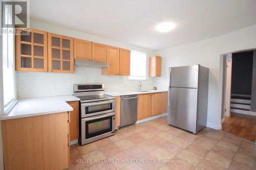
[[[256,23],[255,0],[32,0],[31,18],[150,50],[220,36]],[[161,22],[175,22],[169,33]]]

